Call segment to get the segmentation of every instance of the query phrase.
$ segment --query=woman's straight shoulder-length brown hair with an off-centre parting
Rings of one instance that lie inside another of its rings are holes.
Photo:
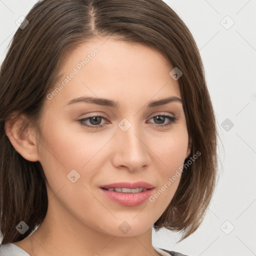
[[[183,21],[161,0],[41,0],[26,19],[29,23],[15,32],[0,68],[2,244],[24,239],[43,221],[48,205],[41,164],[14,149],[5,134],[5,120],[25,113],[40,131],[43,103],[58,79],[62,58],[95,35],[155,47],[182,71],[178,83],[192,139],[189,156],[201,154],[191,164],[185,159],[188,167],[153,227],[180,231],[182,239],[193,233],[216,184],[217,131],[200,54]],[[29,226],[25,234],[15,228],[21,220]]]

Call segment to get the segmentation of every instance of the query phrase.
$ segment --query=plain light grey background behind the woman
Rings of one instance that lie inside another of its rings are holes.
[[[0,0],[0,63],[15,21],[35,2]],[[200,50],[223,147],[219,143],[219,182],[201,226],[180,243],[178,234],[153,232],[153,246],[190,256],[256,255],[256,0],[165,2]]]

